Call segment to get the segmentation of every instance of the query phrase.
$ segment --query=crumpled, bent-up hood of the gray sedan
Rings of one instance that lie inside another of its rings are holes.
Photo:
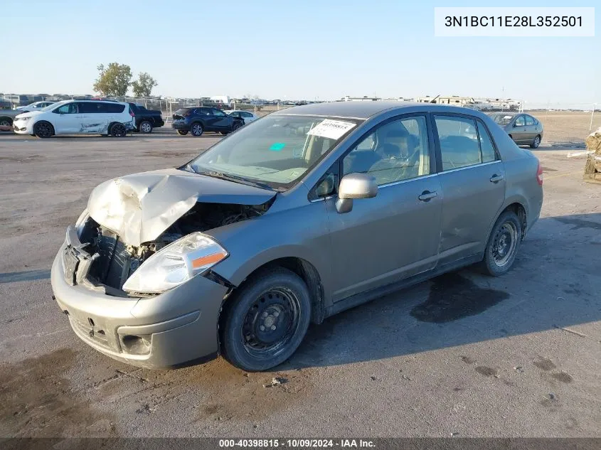
[[[175,168],[105,181],[87,201],[90,217],[138,247],[156,239],[197,202],[261,205],[274,191]]]

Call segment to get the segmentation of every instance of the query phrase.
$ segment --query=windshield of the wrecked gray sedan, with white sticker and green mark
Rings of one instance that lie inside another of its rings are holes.
[[[290,188],[360,122],[268,115],[197,156],[186,170],[278,190]]]

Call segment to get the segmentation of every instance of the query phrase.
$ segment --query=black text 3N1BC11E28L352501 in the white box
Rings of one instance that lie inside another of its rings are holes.
[[[576,27],[583,26],[582,16],[445,16],[448,27]]]

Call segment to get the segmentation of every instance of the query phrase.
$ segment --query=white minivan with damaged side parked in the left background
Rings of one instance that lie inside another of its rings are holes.
[[[18,114],[14,132],[46,138],[55,134],[105,134],[125,136],[135,129],[134,113],[127,103],[106,100],[65,100],[39,111]]]

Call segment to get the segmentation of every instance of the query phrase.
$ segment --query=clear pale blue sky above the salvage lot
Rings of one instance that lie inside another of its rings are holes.
[[[92,93],[100,63],[148,72],[156,95],[469,95],[601,103],[594,38],[440,38],[449,2],[3,0],[0,92]],[[595,6],[528,1],[527,6]],[[453,1],[452,6],[525,6]],[[6,38],[8,36],[8,38]]]

